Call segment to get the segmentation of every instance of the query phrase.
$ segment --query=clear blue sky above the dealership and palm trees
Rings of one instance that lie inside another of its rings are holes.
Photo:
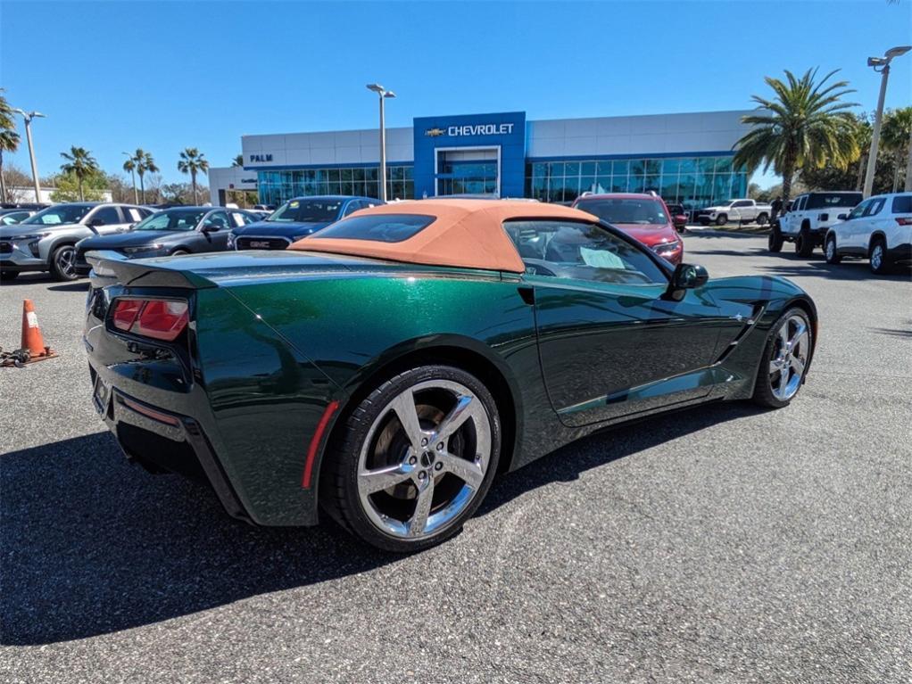
[[[909,0],[0,0],[0,86],[14,106],[47,114],[34,126],[42,175],[70,145],[106,171],[143,147],[169,182],[183,179],[187,146],[227,166],[245,133],[376,126],[364,88],[373,81],[399,96],[389,126],[511,110],[555,119],[749,109],[764,76],[808,67],[841,68],[870,110],[880,78],[866,57],[910,42]],[[894,62],[886,98],[910,102],[912,53]],[[23,170],[25,147],[11,160]]]

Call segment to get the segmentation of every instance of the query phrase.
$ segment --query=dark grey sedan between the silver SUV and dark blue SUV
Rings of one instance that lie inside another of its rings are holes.
[[[223,252],[228,234],[254,223],[256,217],[242,209],[223,207],[174,207],[151,214],[127,233],[87,237],[76,244],[76,269],[86,275],[91,266],[87,252],[109,250],[129,259],[171,254]]]

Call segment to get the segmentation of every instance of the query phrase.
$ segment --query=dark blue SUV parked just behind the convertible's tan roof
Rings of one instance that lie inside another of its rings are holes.
[[[269,218],[233,230],[229,249],[285,249],[302,237],[336,223],[351,212],[382,204],[376,197],[318,195],[295,197]]]

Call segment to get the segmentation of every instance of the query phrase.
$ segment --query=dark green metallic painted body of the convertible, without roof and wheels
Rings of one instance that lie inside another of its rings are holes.
[[[119,294],[187,296],[192,330],[185,349],[151,353],[148,341],[140,348],[105,332],[105,306],[93,306],[92,367],[122,392],[199,421],[246,513],[269,525],[316,523],[318,491],[301,480],[320,417],[340,402],[331,435],[365,383],[403,359],[446,360],[456,351],[483,359],[482,381],[496,373],[511,395],[516,430],[506,458],[515,469],[607,425],[749,397],[775,319],[798,302],[815,320],[802,290],[760,276],[710,279],[675,303],[656,286],[326,254],[111,268],[130,287],[98,290],[105,303]]]

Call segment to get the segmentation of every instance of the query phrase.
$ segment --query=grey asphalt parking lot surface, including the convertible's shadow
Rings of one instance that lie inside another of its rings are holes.
[[[606,432],[496,482],[451,542],[379,554],[257,529],[130,466],[89,400],[82,283],[35,301],[60,358],[0,369],[0,679],[907,682],[912,278],[765,237],[685,238],[710,277],[793,278],[821,337],[787,409]]]

